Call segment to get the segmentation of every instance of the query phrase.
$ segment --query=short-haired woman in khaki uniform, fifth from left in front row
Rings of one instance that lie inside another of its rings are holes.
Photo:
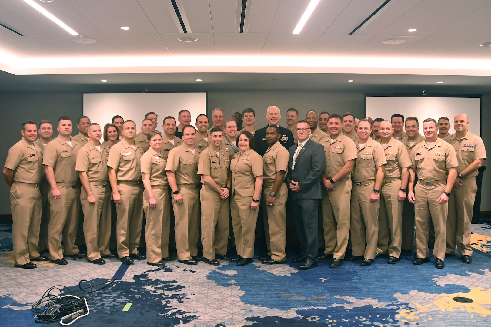
[[[162,149],[162,133],[152,130],[148,134],[150,148],[140,159],[143,192],[143,211],[147,223],[145,239],[147,244],[147,264],[164,267],[169,257],[170,202],[167,192],[166,161]]]

